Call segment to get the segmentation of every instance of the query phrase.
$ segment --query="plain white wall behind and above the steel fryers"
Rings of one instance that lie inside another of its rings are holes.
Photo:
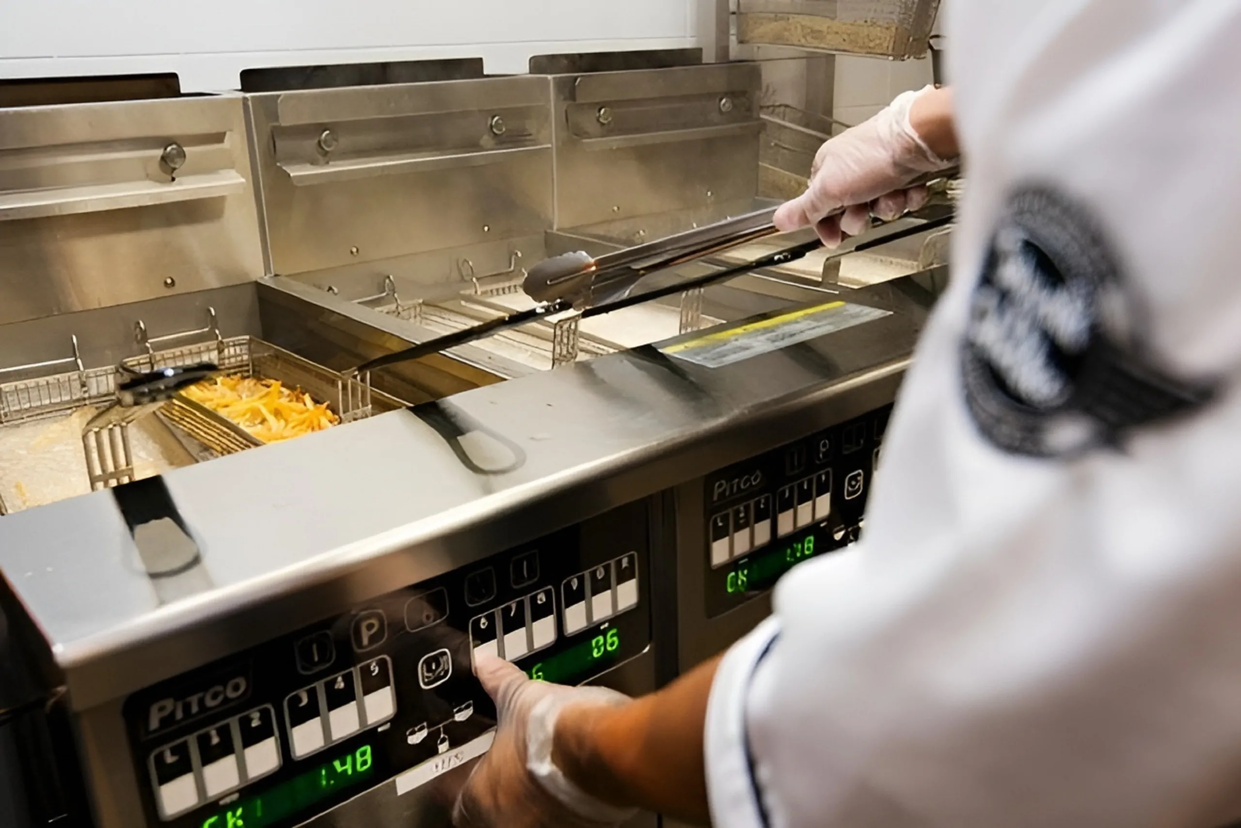
[[[697,45],[700,0],[0,0],[0,78],[177,72],[232,89],[243,68]]]

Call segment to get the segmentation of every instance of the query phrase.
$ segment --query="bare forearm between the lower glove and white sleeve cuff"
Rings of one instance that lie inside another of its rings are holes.
[[[719,663],[619,708],[566,709],[556,722],[556,766],[604,802],[705,824],[702,729]]]

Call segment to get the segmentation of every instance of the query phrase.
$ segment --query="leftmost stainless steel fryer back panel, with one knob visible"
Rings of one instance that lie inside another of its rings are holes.
[[[0,108],[0,324],[261,277],[249,179],[240,96]]]

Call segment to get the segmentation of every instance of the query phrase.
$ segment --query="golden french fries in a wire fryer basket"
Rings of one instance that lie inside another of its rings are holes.
[[[186,397],[237,423],[257,439],[274,443],[323,431],[340,422],[326,402],[278,380],[228,375],[202,380],[181,391]]]

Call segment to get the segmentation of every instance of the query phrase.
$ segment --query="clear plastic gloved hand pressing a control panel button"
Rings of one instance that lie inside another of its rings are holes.
[[[457,828],[603,828],[637,813],[586,793],[551,758],[556,720],[566,708],[620,705],[628,696],[532,682],[494,657],[479,658],[474,673],[495,701],[495,741],[457,798]]]

